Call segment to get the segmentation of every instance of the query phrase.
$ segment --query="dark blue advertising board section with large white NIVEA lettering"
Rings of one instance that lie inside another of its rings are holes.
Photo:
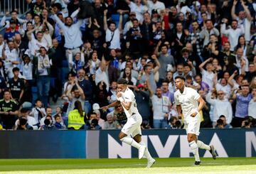
[[[256,156],[256,129],[203,129],[198,137],[213,144],[219,157]],[[100,158],[137,158],[138,150],[118,139],[119,131],[100,131]],[[142,140],[153,157],[192,157],[185,130],[146,130]],[[205,150],[200,156],[211,157]]]

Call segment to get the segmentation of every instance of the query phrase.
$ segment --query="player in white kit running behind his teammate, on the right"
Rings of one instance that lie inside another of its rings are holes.
[[[174,93],[174,99],[176,102],[176,108],[178,116],[183,114],[183,120],[186,128],[186,134],[188,136],[188,143],[191,147],[191,151],[195,156],[195,165],[200,165],[198,148],[206,149],[210,151],[213,159],[216,159],[215,148],[213,145],[206,145],[202,141],[198,140],[201,116],[199,112],[206,103],[203,98],[191,87],[185,87],[185,78],[182,76],[175,77],[176,92]],[[199,105],[198,105],[199,103]],[[182,113],[182,114],[181,114]]]

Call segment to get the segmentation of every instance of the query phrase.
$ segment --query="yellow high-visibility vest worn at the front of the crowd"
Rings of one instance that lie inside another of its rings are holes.
[[[85,112],[83,112],[85,115]],[[73,127],[74,129],[80,129],[85,124],[84,116],[80,116],[78,109],[70,111],[68,114],[68,128]]]

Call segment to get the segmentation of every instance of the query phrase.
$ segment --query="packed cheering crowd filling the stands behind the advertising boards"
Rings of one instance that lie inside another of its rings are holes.
[[[100,109],[119,77],[142,129],[181,129],[177,75],[207,102],[201,127],[256,126],[256,1],[26,2],[0,23],[0,129],[121,129],[121,105]]]

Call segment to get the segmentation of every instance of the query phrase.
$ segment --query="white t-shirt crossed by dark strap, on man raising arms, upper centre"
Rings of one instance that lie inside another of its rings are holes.
[[[113,34],[114,34],[114,36],[113,36],[113,39],[111,40]],[[110,47],[109,47],[110,49],[121,49],[121,47],[120,47],[120,32],[119,32],[118,28],[115,29],[114,32],[110,31],[110,29],[107,28],[106,42],[108,42],[110,40],[111,40]]]

